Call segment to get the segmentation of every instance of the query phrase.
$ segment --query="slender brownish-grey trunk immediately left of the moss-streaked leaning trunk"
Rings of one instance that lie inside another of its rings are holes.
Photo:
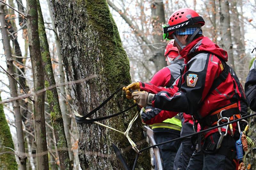
[[[40,42],[38,36],[38,15],[36,0],[27,0],[27,26],[29,53],[33,72],[34,91],[44,89],[44,69],[42,65]],[[34,95],[34,123],[37,169],[47,170],[48,152],[44,117],[44,92]]]

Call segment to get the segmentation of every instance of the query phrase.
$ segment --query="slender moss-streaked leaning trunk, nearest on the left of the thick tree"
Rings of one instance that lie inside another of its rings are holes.
[[[55,79],[52,70],[52,61],[49,51],[49,45],[46,37],[46,32],[44,28],[44,18],[40,7],[39,0],[37,2],[37,11],[38,11],[38,32],[40,39],[40,49],[42,55],[42,61],[44,65],[44,79],[45,87],[55,85]],[[63,119],[60,110],[59,96],[57,93],[57,88],[52,88],[46,90],[46,96],[48,103],[51,109],[51,120],[52,127],[55,134],[56,146],[58,149],[58,155],[60,159],[60,168],[61,169],[72,169],[71,163],[68,155],[68,144],[64,131]]]

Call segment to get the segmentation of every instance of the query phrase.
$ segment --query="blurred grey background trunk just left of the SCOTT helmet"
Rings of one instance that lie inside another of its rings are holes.
[[[160,70],[166,66],[164,58],[165,44],[163,43],[163,31],[161,26],[162,24],[165,24],[164,3],[162,0],[157,2],[151,0],[151,19],[153,27],[153,43],[158,43],[159,45],[156,46],[159,47],[159,49],[155,48],[152,51],[153,56],[150,60],[154,62],[156,70]]]

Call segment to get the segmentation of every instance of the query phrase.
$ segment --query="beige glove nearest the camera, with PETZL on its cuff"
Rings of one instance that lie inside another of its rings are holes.
[[[135,91],[132,93],[133,99],[136,100],[137,104],[140,107],[152,105],[154,96],[155,96],[154,94],[148,93],[146,91]]]

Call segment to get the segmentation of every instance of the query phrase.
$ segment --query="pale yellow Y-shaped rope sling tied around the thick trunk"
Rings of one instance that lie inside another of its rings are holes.
[[[74,113],[75,113],[75,115],[76,115],[77,117],[83,117],[82,115],[78,114],[76,111],[74,111]],[[139,150],[137,149],[137,145],[136,145],[136,144],[132,141],[132,139],[129,137],[129,131],[130,131],[131,127],[132,127],[132,124],[135,122],[135,120],[136,120],[138,117],[139,117],[139,112],[137,111],[137,113],[136,113],[135,116],[132,118],[132,120],[131,120],[131,122],[129,123],[129,125],[128,125],[128,127],[127,127],[127,129],[126,129],[125,132],[122,132],[122,131],[119,131],[119,130],[117,130],[117,129],[114,129],[114,128],[112,128],[112,127],[110,127],[110,126],[107,126],[107,125],[105,125],[105,124],[101,124],[101,123],[99,123],[99,122],[97,122],[97,121],[95,121],[95,122],[93,122],[93,123],[99,124],[100,126],[103,126],[103,127],[105,127],[105,128],[111,129],[111,130],[116,131],[116,132],[118,132],[118,133],[124,134],[124,136],[128,139],[129,143],[132,145],[132,149],[134,149],[136,152],[139,152]],[[86,118],[86,119],[90,119],[90,118]]]

